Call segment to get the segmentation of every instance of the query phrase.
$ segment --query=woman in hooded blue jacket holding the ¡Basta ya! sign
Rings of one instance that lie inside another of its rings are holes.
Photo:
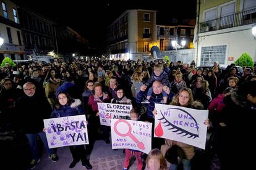
[[[79,99],[73,100],[69,97],[69,94],[60,92],[58,94],[58,103],[56,103],[56,107],[51,113],[51,118],[83,115],[85,111],[83,110],[81,103],[82,102]],[[69,146],[69,149],[73,157],[73,161],[69,168],[74,168],[75,164],[81,160],[82,166],[85,166],[87,169],[92,169],[92,165],[90,164],[89,159],[87,159],[88,150],[92,152],[92,147],[90,145],[88,145],[87,152],[85,152],[83,145]]]

